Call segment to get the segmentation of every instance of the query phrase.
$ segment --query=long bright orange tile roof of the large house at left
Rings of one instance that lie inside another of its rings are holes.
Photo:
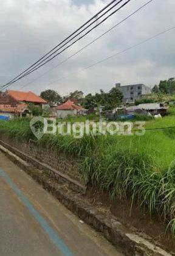
[[[37,96],[35,93],[32,93],[32,91],[28,91],[27,93],[24,91],[13,91],[8,90],[8,93],[13,99],[16,99],[17,101],[26,101],[26,102],[33,102],[33,103],[47,103],[43,98],[40,96]]]

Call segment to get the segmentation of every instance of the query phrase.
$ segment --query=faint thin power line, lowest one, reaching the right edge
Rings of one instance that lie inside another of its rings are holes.
[[[171,30],[173,30],[173,29],[175,29],[175,26],[170,27],[170,29],[163,30],[163,31],[160,32],[159,34],[156,34],[156,35],[154,35],[153,37],[149,37],[149,38],[147,38],[146,40],[140,41],[140,43],[134,44],[134,45],[132,45],[132,46],[130,46],[130,47],[128,47],[128,48],[126,48],[126,49],[120,51],[120,52],[117,52],[117,53],[115,53],[115,54],[112,54],[112,55],[110,55],[109,57],[107,57],[107,58],[105,58],[105,59],[99,60],[98,62],[95,62],[95,63],[93,63],[93,64],[91,64],[91,65],[89,65],[89,66],[86,66],[86,68],[81,69],[80,72],[82,72],[82,71],[84,71],[84,70],[86,70],[86,69],[92,68],[93,66],[96,66],[96,65],[98,65],[98,64],[100,64],[100,63],[106,62],[106,60],[112,59],[112,58],[114,58],[114,57],[117,56],[117,55],[123,54],[123,53],[125,53],[125,52],[127,52],[127,51],[129,51],[129,50],[131,50],[131,49],[133,49],[133,48],[136,48],[137,46],[139,46],[139,45],[141,45],[141,44],[144,44],[144,43],[146,43],[147,41],[153,40],[154,38],[159,37],[160,35],[163,35],[163,34],[165,34],[166,32],[169,32],[169,31],[171,31]],[[77,72],[74,72],[74,73],[77,74]],[[74,73],[73,73],[73,74],[74,74]],[[54,84],[54,83],[57,82],[58,80],[63,80],[63,79],[66,79],[67,77],[70,77],[70,76],[60,77],[60,79],[57,79],[57,80],[51,82],[50,84]],[[50,85],[50,84],[49,84],[49,85]]]

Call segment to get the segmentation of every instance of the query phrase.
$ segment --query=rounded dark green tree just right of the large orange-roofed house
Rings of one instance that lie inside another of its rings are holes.
[[[58,94],[57,91],[54,91],[54,90],[49,89],[49,90],[42,91],[41,97],[43,99],[46,99],[50,107],[53,107],[55,104],[58,104],[61,102],[60,94]]]

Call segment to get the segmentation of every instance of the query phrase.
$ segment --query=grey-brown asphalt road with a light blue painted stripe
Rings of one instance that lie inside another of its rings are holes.
[[[122,255],[0,153],[0,255]]]

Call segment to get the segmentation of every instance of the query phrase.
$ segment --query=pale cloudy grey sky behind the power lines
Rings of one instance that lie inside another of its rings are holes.
[[[46,54],[110,0],[1,0],[0,85],[9,82]],[[109,91],[115,83],[153,87],[175,76],[175,29],[145,44],[116,55],[92,68],[87,66],[123,51],[163,30],[175,26],[175,1],[153,0],[94,44],[74,54],[148,0],[131,0],[122,10],[95,28],[52,62],[10,86],[12,90],[57,90],[84,94]],[[55,68],[55,66],[57,66]]]

